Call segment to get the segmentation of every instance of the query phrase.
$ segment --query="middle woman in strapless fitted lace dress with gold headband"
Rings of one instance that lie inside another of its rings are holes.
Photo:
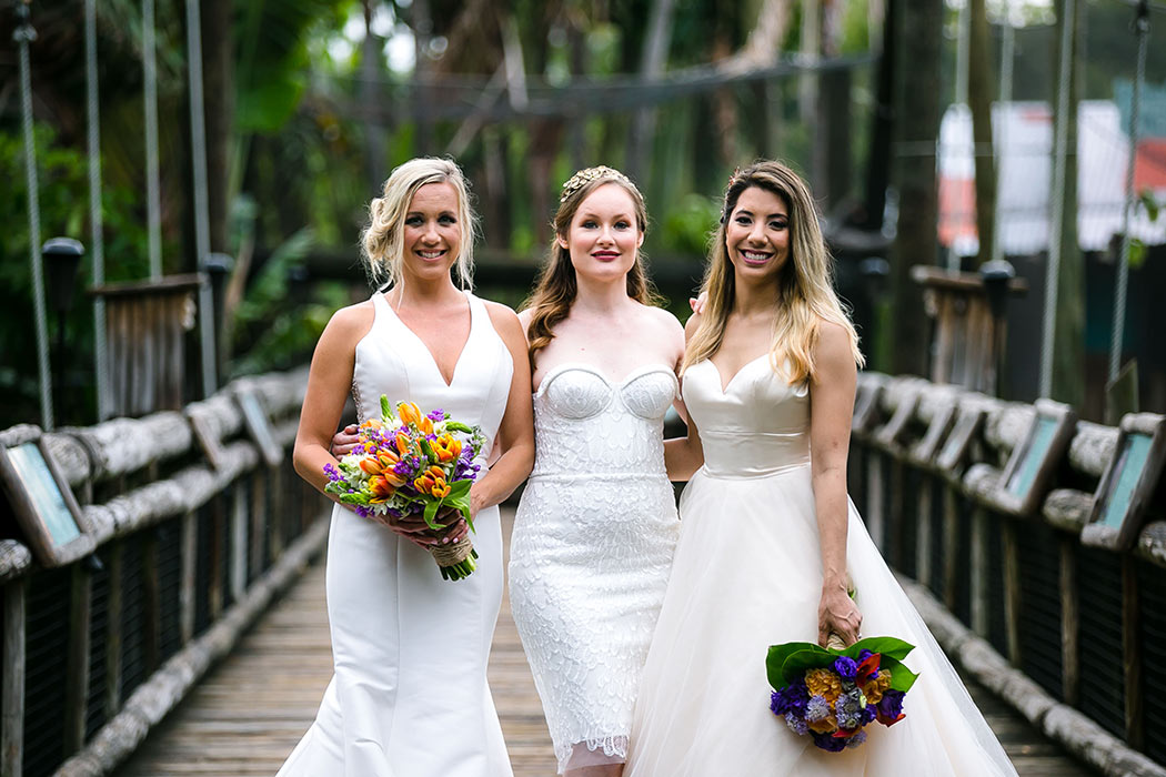
[[[618,170],[564,185],[526,310],[535,464],[511,541],[514,622],[559,771],[618,777],[676,541],[663,416],[680,322],[655,308],[644,198]]]

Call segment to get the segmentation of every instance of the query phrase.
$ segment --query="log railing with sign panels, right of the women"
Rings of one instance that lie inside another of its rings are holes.
[[[1109,775],[1166,775],[1163,421],[868,373],[852,423],[851,496],[936,638]]]

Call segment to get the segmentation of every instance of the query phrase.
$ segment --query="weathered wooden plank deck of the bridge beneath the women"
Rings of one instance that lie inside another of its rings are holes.
[[[512,520],[513,511],[504,511],[507,535]],[[315,718],[332,673],[331,661],[321,563],[305,572],[231,657],[150,734],[118,776],[274,775]],[[490,686],[515,777],[553,776],[550,736],[508,600],[503,601],[490,656]],[[1091,774],[991,693],[976,685],[969,690],[1020,775]]]

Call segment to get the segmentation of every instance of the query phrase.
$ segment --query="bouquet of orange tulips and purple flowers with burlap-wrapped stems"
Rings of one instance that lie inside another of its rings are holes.
[[[437,522],[443,509],[457,510],[473,529],[470,486],[480,469],[473,458],[485,445],[482,430],[447,418],[442,410],[423,415],[412,402],[398,403],[394,416],[384,395],[380,415],[360,424],[357,445],[339,468],[324,465],[324,490],[360,517],[421,516],[431,536],[448,525]],[[429,552],[447,580],[461,580],[476,568],[478,553],[469,537]]]

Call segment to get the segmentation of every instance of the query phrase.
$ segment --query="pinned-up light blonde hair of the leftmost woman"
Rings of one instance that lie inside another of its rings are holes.
[[[417,190],[430,183],[448,183],[457,192],[462,245],[454,266],[462,288],[473,289],[473,240],[478,234],[478,219],[470,207],[469,184],[452,160],[434,157],[409,160],[394,168],[382,195],[368,204],[368,226],[360,233],[360,247],[368,280],[377,288],[394,285],[400,280],[405,216]]]

